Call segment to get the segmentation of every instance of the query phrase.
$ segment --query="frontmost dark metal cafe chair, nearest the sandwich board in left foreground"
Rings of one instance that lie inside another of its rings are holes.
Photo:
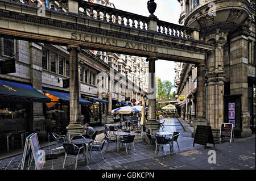
[[[79,154],[81,154],[81,150],[84,149],[84,146],[81,146],[80,148],[76,146],[75,144],[67,144],[64,143],[63,147],[65,149],[65,158],[63,162],[63,169],[65,167],[65,162],[67,158],[75,158],[76,159],[76,164],[75,164],[75,170],[77,169],[77,158]]]

